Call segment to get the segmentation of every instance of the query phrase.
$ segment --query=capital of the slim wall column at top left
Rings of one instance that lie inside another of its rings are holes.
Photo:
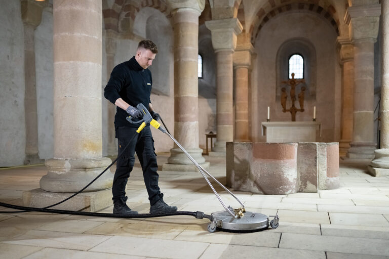
[[[34,0],[21,0],[20,11],[23,23],[30,24],[34,28],[40,25],[44,6],[45,4],[41,4]]]

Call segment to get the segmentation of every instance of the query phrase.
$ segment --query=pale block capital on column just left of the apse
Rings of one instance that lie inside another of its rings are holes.
[[[243,30],[243,26],[237,18],[206,21],[205,26],[211,30],[212,46],[215,52],[235,50],[237,35]]]

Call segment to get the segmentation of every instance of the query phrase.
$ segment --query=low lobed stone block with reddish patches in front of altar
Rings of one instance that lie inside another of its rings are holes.
[[[339,188],[338,143],[227,142],[227,186],[260,194]]]

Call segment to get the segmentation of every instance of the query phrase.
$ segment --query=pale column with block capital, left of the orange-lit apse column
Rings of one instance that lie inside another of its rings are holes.
[[[237,46],[237,35],[242,24],[237,18],[212,20],[205,23],[211,30],[212,46],[216,53],[216,143],[210,155],[225,156],[226,142],[234,140],[232,108],[233,65],[232,54]]]

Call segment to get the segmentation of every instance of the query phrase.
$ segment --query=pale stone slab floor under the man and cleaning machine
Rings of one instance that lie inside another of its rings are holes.
[[[162,164],[167,155],[158,158]],[[207,160],[209,172],[224,183],[225,160]],[[1,169],[0,201],[21,204],[22,192],[38,188],[45,174],[43,165]],[[280,217],[277,229],[246,234],[209,233],[209,220],[189,216],[128,220],[0,214],[0,258],[389,258],[389,178],[371,177],[365,165],[341,161],[340,181],[340,189],[320,193],[234,192],[248,211]],[[223,209],[199,172],[161,171],[160,187],[166,202],[179,210],[209,214]],[[139,165],[127,188],[128,205],[147,213]],[[238,207],[225,191],[220,193]]]

